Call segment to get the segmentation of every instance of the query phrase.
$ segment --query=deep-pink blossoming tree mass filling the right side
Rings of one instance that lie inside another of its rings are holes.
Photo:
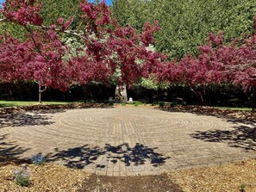
[[[256,17],[253,33],[243,40],[223,44],[223,35],[209,34],[207,43],[199,46],[197,57],[185,56],[179,61],[165,62],[159,67],[158,81],[170,84],[187,84],[203,102],[203,94],[195,88],[209,84],[241,86],[253,109],[256,100]]]

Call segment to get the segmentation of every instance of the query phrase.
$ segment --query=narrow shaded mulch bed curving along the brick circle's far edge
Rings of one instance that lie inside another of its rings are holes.
[[[173,112],[187,112],[198,115],[213,115],[224,118],[234,118],[237,121],[252,121],[256,122],[256,113],[252,110],[243,110],[242,108],[216,108],[216,107],[204,107],[204,106],[175,106],[164,105],[162,107],[152,106],[151,104],[140,105],[122,105],[113,103],[70,103],[70,104],[41,104],[41,105],[29,105],[29,106],[17,106],[17,107],[2,107],[0,108],[0,115],[11,114],[23,111],[32,110],[47,110],[47,109],[72,109],[72,108],[111,108],[111,107],[142,107],[142,108],[159,108],[162,110],[168,110]]]

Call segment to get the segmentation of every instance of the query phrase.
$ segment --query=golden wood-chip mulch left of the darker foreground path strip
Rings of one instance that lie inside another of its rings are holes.
[[[14,170],[28,167],[31,184],[21,187],[14,182]],[[0,155],[0,191],[61,191],[72,192],[82,188],[82,183],[89,177],[83,170],[69,169],[58,164],[34,165],[28,160],[17,160]]]

